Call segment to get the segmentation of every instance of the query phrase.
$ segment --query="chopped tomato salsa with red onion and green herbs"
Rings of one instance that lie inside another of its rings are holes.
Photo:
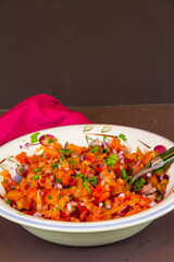
[[[27,215],[64,222],[115,219],[146,211],[162,201],[169,176],[164,169],[148,172],[132,182],[132,176],[158,154],[135,153],[122,143],[124,135],[88,146],[66,143],[45,134],[40,147],[28,156],[15,156],[21,182],[2,170],[1,198]]]

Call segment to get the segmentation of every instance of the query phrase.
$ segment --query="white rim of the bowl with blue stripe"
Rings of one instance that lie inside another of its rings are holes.
[[[65,126],[65,127],[55,127],[55,128],[49,128],[39,130],[38,132],[49,132],[51,130],[55,129],[64,129],[64,128],[72,128],[72,127],[79,127],[85,128],[88,124],[73,124],[73,126]],[[166,140],[171,145],[173,142],[162,135],[159,135],[157,133],[146,131],[142,129],[126,127],[126,126],[119,126],[119,124],[103,124],[103,123],[91,123],[90,126],[94,127],[103,127],[103,126],[110,126],[114,128],[123,128],[123,129],[130,129],[133,131],[140,131],[146,132],[151,135],[159,136],[163,140]],[[37,132],[37,131],[36,131]],[[1,146],[1,148],[8,146],[11,142],[17,142],[21,139],[27,138],[28,135],[33,134],[28,133],[23,136],[20,136],[13,141],[10,141]],[[3,204],[2,204],[3,203]],[[45,218],[34,217],[26,214],[23,214],[18,211],[13,210],[10,206],[5,206],[7,204],[0,200],[0,215],[4,218],[8,218],[9,221],[12,221],[14,223],[21,224],[22,226],[26,227],[34,227],[38,229],[45,229],[45,230],[52,230],[52,231],[62,231],[62,233],[95,233],[95,231],[109,231],[114,229],[122,229],[126,227],[137,226],[144,223],[150,223],[154,221],[156,218],[169,213],[174,209],[174,191],[166,196],[165,200],[163,200],[161,203],[157,204],[153,207],[150,207],[147,211],[140,212],[138,214],[116,218],[116,219],[110,219],[110,221],[101,221],[101,222],[83,222],[83,223],[72,223],[72,222],[59,222],[59,221],[47,221]]]

